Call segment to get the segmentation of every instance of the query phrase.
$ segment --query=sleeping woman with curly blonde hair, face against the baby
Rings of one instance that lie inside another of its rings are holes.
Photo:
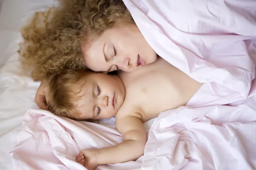
[[[22,30],[23,68],[34,80],[70,68],[92,71],[134,71],[157,58],[122,0],[60,0],[38,12]],[[45,17],[45,27],[35,23]],[[50,18],[49,18],[50,17]],[[32,42],[32,43],[30,43]],[[30,43],[30,44],[29,44]],[[29,45],[26,45],[29,44]],[[49,85],[42,81],[35,102],[45,109]]]

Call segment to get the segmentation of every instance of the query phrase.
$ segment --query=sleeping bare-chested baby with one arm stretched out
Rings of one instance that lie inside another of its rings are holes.
[[[186,105],[202,85],[160,57],[132,72],[110,75],[66,70],[49,80],[48,109],[57,116],[97,120],[115,115],[123,142],[81,150],[76,161],[89,170],[142,156],[147,141],[143,123],[163,111]]]

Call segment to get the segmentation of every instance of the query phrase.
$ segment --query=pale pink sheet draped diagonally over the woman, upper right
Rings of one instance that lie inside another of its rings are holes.
[[[193,79],[208,82],[200,96],[204,100],[188,106],[247,98],[255,77],[255,0],[123,1],[160,57]]]

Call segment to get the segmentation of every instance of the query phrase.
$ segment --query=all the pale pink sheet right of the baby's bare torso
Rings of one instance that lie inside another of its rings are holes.
[[[157,54],[204,82],[155,120],[142,169],[256,169],[256,1],[123,1]]]

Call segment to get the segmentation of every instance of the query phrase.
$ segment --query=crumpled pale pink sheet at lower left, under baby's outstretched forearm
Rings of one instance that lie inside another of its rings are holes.
[[[114,118],[100,124],[60,118],[44,110],[29,110],[23,117],[13,153],[14,169],[76,170],[83,167],[75,157],[84,148],[102,148],[122,142]],[[152,122],[147,122],[148,127]],[[145,126],[145,129],[148,127]],[[148,128],[149,129],[149,128]],[[100,165],[99,170],[140,168],[142,159],[115,165]],[[85,168],[84,168],[85,169]]]

